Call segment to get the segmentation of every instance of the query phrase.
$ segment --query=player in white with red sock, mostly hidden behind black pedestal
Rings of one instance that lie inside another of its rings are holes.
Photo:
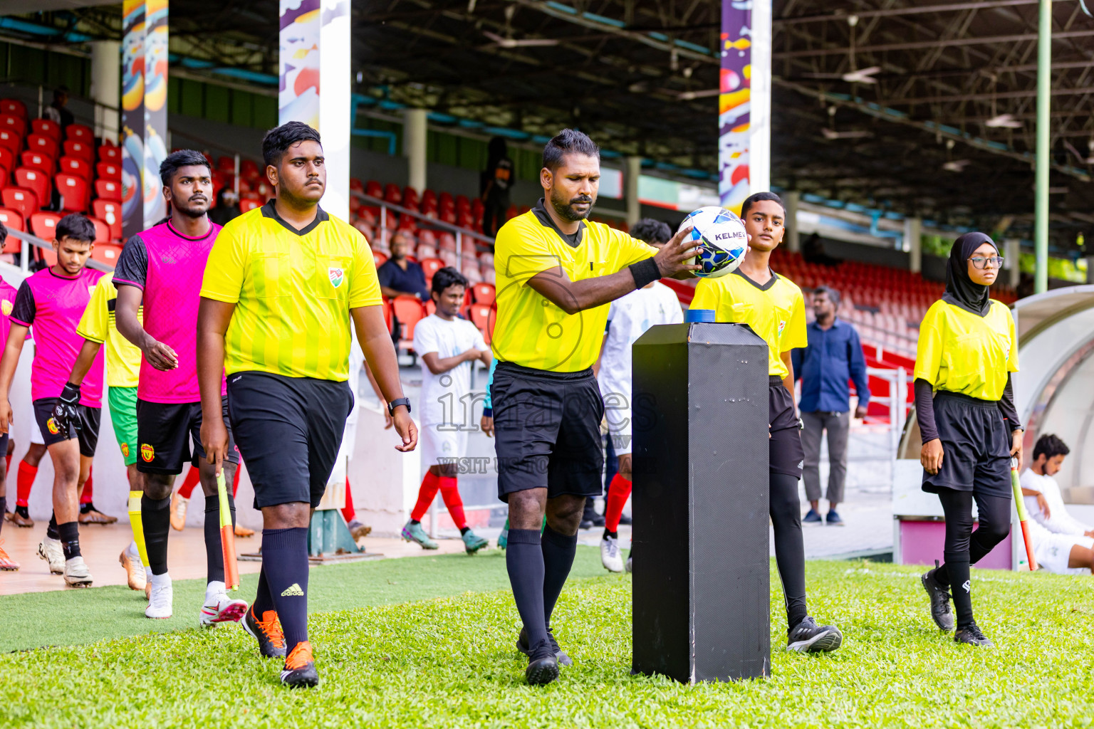
[[[644,217],[631,226],[630,235],[660,248],[668,243],[672,230],[661,221]],[[596,379],[604,398],[608,438],[619,458],[619,470],[608,484],[604,537],[601,538],[601,563],[609,572],[624,569],[618,530],[622,507],[630,498],[631,490],[631,345],[654,325],[683,321],[684,311],[676,293],[657,281],[617,298],[608,309]],[[628,571],[630,564],[628,558]]]

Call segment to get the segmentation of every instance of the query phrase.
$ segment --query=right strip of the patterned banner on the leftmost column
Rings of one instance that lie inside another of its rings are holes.
[[[167,0],[144,0],[144,221],[167,214],[160,163],[167,156]]]

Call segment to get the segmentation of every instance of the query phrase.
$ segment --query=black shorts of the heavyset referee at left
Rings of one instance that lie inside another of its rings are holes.
[[[255,508],[323,498],[353,408],[347,383],[240,372],[228,377],[228,412]]]

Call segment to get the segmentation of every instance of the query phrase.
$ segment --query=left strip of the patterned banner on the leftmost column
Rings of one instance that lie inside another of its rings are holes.
[[[121,232],[144,230],[144,0],[121,7]]]

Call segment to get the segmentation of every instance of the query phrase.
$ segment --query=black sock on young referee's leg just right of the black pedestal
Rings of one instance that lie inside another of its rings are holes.
[[[805,544],[802,541],[798,479],[785,473],[771,473],[769,484],[775,562],[779,567],[782,595],[787,602],[787,630],[792,630],[808,614],[805,607]]]

